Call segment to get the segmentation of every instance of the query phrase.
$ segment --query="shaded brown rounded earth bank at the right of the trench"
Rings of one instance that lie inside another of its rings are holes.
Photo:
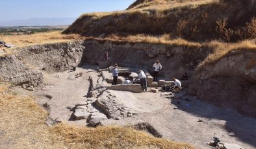
[[[196,71],[190,93],[220,106],[256,116],[256,52],[232,51],[218,62]]]

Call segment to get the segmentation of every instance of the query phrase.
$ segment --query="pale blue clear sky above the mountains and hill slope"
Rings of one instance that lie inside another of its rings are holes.
[[[135,0],[0,0],[0,21],[125,10]]]

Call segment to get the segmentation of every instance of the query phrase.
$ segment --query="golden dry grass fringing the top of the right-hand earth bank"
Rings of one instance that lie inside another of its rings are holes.
[[[198,70],[202,69],[206,65],[216,63],[221,58],[224,58],[232,51],[238,52],[247,52],[255,51],[256,52],[256,40],[245,40],[238,43],[220,43],[218,41],[211,41],[210,43],[205,43],[205,47],[209,47],[214,50],[212,54],[209,54],[203,62],[198,65]],[[255,61],[251,62],[251,65],[256,64]],[[251,67],[250,65],[250,67]]]

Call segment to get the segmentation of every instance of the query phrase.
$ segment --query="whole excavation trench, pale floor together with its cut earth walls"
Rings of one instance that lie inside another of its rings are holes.
[[[104,62],[105,52],[109,52],[110,62]],[[205,104],[194,95],[211,102],[218,98],[220,103],[227,101],[227,97],[229,103],[235,99],[235,105],[229,106],[255,115],[255,82],[251,80],[256,78],[256,68],[244,69],[248,68],[255,52],[233,52],[218,63],[195,71],[198,63],[210,53],[211,50],[198,47],[94,40],[36,45],[16,49],[14,55],[1,58],[0,78],[18,86],[14,87],[18,93],[33,93],[38,104],[47,103],[45,107],[49,108],[49,117],[54,122],[91,126],[132,124],[156,137],[162,135],[176,141],[188,141],[201,148],[206,147],[203,143],[211,140],[212,136],[198,130],[209,130],[212,134],[218,132],[225,142],[233,140],[226,135],[228,131],[237,131],[236,141],[253,148],[256,146],[255,134],[251,131],[255,130],[255,125],[252,125],[256,122],[254,118]],[[170,99],[168,94],[161,92],[131,93],[109,89],[107,79],[112,79],[109,65],[118,63],[120,78],[129,78],[139,69],[150,76],[156,60],[160,60],[163,67],[161,79],[180,78],[187,73],[192,78],[187,85],[188,91],[194,95],[189,95],[186,87],[175,95],[177,99]],[[72,71],[73,67],[77,69]],[[83,75],[78,76],[80,73]],[[224,76],[229,78],[233,73],[238,76],[227,82]],[[92,79],[88,80],[89,77]],[[250,80],[250,83],[240,88],[244,80]],[[232,88],[236,92],[229,91]],[[240,91],[246,92],[239,94]],[[177,104],[176,100],[181,100],[181,104]],[[202,117],[206,122],[198,124],[198,119]],[[240,124],[237,119],[243,123]],[[194,133],[187,135],[186,132],[191,131]],[[196,137],[199,139],[194,141],[192,138]]]

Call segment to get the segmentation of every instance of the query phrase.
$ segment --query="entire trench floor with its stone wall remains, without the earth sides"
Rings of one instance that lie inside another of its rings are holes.
[[[24,92],[16,87],[16,91],[35,95],[38,104],[47,108],[49,117],[57,122],[80,126],[145,124],[153,135],[200,148],[211,148],[206,143],[212,141],[214,133],[224,143],[256,147],[255,118],[198,100],[188,95],[186,88],[175,95],[110,90],[103,73],[91,65],[76,71],[42,74],[42,89]],[[235,136],[229,135],[231,132]]]

